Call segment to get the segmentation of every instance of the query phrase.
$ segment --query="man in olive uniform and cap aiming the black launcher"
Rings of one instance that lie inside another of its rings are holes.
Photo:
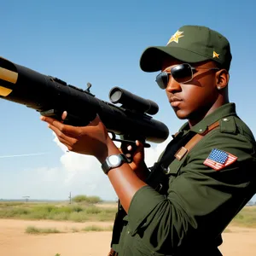
[[[255,140],[229,102],[230,61],[228,40],[205,26],[143,52],[143,71],[161,71],[157,84],[188,119],[149,171],[142,143],[128,164],[99,117],[85,127],[42,117],[68,150],[102,163],[119,196],[113,255],[222,255],[221,233],[256,188]]]

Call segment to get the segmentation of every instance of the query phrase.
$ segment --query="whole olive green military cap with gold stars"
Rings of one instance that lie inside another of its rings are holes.
[[[207,26],[192,25],[181,26],[166,46],[145,49],[140,67],[145,72],[159,71],[168,56],[189,63],[212,60],[227,70],[232,59],[227,38]]]

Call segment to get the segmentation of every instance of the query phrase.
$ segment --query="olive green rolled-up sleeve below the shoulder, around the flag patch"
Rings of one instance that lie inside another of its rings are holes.
[[[237,159],[217,171],[204,164],[212,148]],[[148,186],[137,191],[128,212],[131,235],[143,233],[156,252],[214,239],[255,193],[255,166],[246,137],[212,132],[190,151],[166,196]]]

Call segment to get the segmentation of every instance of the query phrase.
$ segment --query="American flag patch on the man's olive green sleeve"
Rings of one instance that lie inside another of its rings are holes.
[[[207,159],[204,161],[204,165],[219,171],[225,166],[230,166],[232,163],[236,162],[236,160],[236,155],[213,148]]]

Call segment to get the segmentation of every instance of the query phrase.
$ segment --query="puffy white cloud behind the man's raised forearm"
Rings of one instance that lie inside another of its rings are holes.
[[[49,169],[42,172],[44,182],[48,178],[48,182],[55,181],[58,183],[58,191],[52,191],[55,195],[60,192],[66,193],[70,189],[74,195],[98,195],[104,200],[115,200],[117,198],[108,177],[102,173],[102,169],[98,160],[90,155],[76,154],[67,152],[66,146],[61,144],[55,137],[54,142],[61,148],[61,167],[57,169]],[[151,148],[146,148],[145,161],[148,166],[153,166],[164,148],[166,143],[154,144]],[[61,175],[58,176],[58,174]],[[45,176],[45,173],[46,176]],[[48,177],[49,175],[49,177]]]

